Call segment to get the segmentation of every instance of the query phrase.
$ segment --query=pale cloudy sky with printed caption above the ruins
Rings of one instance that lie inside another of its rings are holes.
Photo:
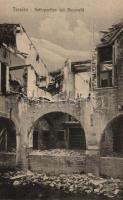
[[[55,68],[66,58],[87,59],[99,31],[122,18],[123,0],[0,0],[0,23],[21,23],[45,62]]]

